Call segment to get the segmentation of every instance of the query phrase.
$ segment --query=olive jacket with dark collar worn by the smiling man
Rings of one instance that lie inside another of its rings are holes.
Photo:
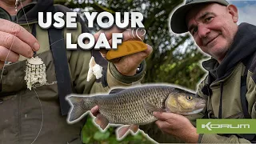
[[[208,71],[206,78],[198,86],[198,94],[208,99],[206,109],[200,114],[187,116],[192,124],[196,125],[197,118],[244,118],[241,103],[241,78],[246,75],[247,92],[244,97],[248,102],[247,108],[251,118],[256,118],[256,26],[242,23],[238,26],[238,32],[234,42],[221,64],[211,58],[202,62],[202,66]],[[245,63],[250,62],[250,66]],[[249,70],[246,70],[248,67]],[[246,71],[245,71],[246,70]],[[210,80],[208,79],[210,77]],[[222,97],[222,98],[220,98]],[[220,100],[221,99],[221,100]],[[222,103],[222,104],[221,104]],[[220,110],[221,109],[221,110]],[[240,113],[240,114],[239,114]],[[232,117],[237,115],[237,117]],[[157,142],[182,142],[171,135],[162,134],[161,130],[152,123],[140,126]],[[246,143],[250,142],[242,135],[200,134],[202,143]]]

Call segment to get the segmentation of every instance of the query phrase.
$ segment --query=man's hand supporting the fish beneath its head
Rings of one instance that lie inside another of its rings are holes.
[[[174,135],[175,137],[188,142],[197,143],[198,136],[196,128],[190,120],[180,114],[154,112],[155,118],[158,118],[156,125],[162,132]]]

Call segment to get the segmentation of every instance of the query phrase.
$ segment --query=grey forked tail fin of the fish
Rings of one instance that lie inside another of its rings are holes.
[[[92,103],[87,103],[85,101],[87,99],[91,99],[90,97],[70,96],[67,99],[70,100],[70,105],[73,106],[69,114],[69,122],[73,122],[79,118],[82,118],[82,115],[94,106],[91,105]]]

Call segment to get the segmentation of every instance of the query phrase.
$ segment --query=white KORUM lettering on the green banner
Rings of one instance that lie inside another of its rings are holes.
[[[228,128],[228,129],[250,129],[249,124],[211,124],[211,122],[208,122],[207,124],[202,124],[202,129],[222,129],[222,128]]]

